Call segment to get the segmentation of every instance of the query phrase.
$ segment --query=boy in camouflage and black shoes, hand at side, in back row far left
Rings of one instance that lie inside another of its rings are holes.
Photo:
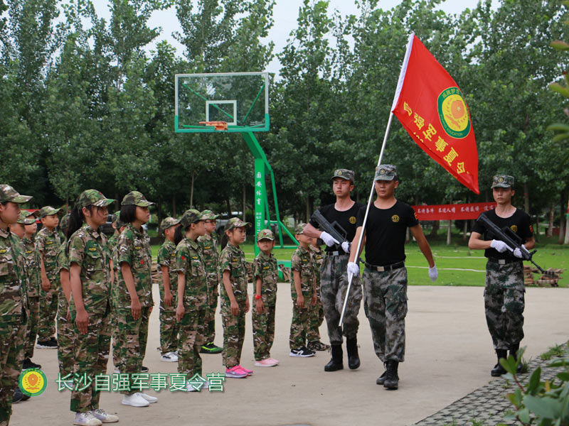
[[[46,206],[40,210],[43,228],[36,235],[36,250],[40,253],[41,290],[40,290],[40,327],[38,330],[38,348],[57,349],[55,340],[55,317],[58,312],[58,262],[61,246],[57,231],[60,209]]]

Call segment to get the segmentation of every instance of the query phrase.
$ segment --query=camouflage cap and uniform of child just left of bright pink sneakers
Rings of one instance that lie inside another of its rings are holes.
[[[203,220],[201,213],[189,209],[181,219],[181,226],[185,229],[200,220]],[[209,310],[206,266],[197,241],[185,237],[176,247],[176,273],[184,273],[186,277],[184,294],[176,297],[176,305],[179,297],[183,298],[184,304],[184,317],[180,321],[178,373],[186,374],[189,380],[202,372],[200,349],[204,343],[203,332]]]

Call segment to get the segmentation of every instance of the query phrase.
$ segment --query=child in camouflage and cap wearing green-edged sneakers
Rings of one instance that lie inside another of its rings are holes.
[[[218,308],[219,298],[219,250],[216,239],[216,219],[218,214],[211,210],[201,212],[206,224],[206,234],[198,238],[201,246],[203,261],[206,262],[206,273],[208,274],[208,300],[209,310],[206,318],[206,334],[203,339],[205,344],[201,347],[203,354],[219,354],[223,349],[214,344],[216,339],[216,309]]]

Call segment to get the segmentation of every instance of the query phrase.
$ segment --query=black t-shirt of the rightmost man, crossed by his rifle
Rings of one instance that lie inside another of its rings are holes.
[[[521,237],[521,241],[523,242],[526,242],[528,238],[533,236],[533,227],[531,226],[529,215],[526,212],[522,212],[520,209],[516,209],[516,212],[514,212],[514,214],[512,214],[510,217],[505,218],[499,217],[494,209],[482,214],[486,214],[486,217],[490,219],[490,222],[496,224],[496,226],[498,226],[500,229],[504,228],[504,226],[508,226],[512,231]],[[482,216],[482,214],[480,214],[480,216]],[[472,232],[478,232],[484,236],[484,241],[499,239],[497,236],[491,235],[486,229],[486,226],[478,221],[474,222],[474,226],[472,226]],[[512,247],[512,249],[514,249],[514,247]],[[484,256],[495,259],[518,259],[514,257],[514,254],[509,250],[504,251],[504,253],[500,253],[496,249],[486,249],[484,250]]]

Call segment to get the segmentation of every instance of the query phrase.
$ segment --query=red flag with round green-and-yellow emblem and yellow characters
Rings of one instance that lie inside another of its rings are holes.
[[[450,74],[411,34],[392,112],[413,141],[477,194],[478,151],[462,92]]]

